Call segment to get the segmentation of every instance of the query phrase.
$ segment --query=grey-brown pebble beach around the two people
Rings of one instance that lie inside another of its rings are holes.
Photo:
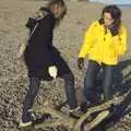
[[[21,131],[22,104],[28,88],[24,62],[17,59],[17,49],[27,36],[25,23],[47,1],[43,0],[0,0],[0,131]],[[75,87],[83,86],[84,72],[76,67],[79,49],[88,25],[99,17],[104,8],[100,3],[87,1],[67,1],[68,14],[55,29],[53,45],[61,51],[75,76]],[[131,8],[121,8],[122,21],[128,28],[128,51],[120,59],[121,76],[116,91],[131,88]],[[87,61],[86,61],[87,62]],[[86,68],[85,62],[85,68]],[[79,97],[79,96],[78,96]],[[39,110],[46,100],[50,104],[66,99],[64,83],[41,82],[34,109]],[[131,96],[130,96],[131,102]],[[131,103],[123,118],[106,131],[131,131]],[[62,129],[39,129],[37,131],[62,131]]]

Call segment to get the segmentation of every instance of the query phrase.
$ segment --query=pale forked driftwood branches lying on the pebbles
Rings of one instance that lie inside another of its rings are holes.
[[[49,104],[46,103],[44,105],[44,108],[40,110],[40,112],[50,114],[52,117],[58,118],[58,119],[55,121],[51,121],[51,122],[39,123],[35,127],[35,129],[37,129],[39,127],[44,128],[44,127],[64,126],[64,127],[68,127],[69,129],[71,129],[71,131],[81,131],[81,127],[82,127],[83,122],[92,114],[99,111],[99,114],[92,121],[85,123],[85,126],[84,126],[85,131],[91,131],[93,128],[98,126],[98,123],[100,123],[105,118],[107,118],[107,116],[109,115],[110,105],[112,105],[112,104],[119,105],[120,103],[122,103],[124,100],[124,98],[129,95],[129,93],[130,92],[128,92],[121,96],[118,96],[117,98],[115,97],[102,105],[90,108],[86,114],[84,114],[80,117],[80,119],[71,118],[70,116],[68,116],[61,111],[58,111],[53,107],[50,107]]]

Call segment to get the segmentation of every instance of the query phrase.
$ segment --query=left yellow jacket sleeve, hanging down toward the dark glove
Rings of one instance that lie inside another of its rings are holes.
[[[79,53],[79,58],[85,58],[91,47],[93,46],[93,39],[95,35],[96,22],[94,22],[84,35],[84,41]]]

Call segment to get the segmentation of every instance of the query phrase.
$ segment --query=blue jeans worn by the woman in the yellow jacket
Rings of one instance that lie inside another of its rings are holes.
[[[84,79],[84,96],[86,100],[91,103],[96,102],[96,95],[94,88],[95,88],[96,78],[100,69],[103,69],[102,87],[104,91],[104,100],[108,100],[109,98],[111,98],[115,66],[107,66],[104,63],[98,64],[96,61],[90,60],[86,75]]]

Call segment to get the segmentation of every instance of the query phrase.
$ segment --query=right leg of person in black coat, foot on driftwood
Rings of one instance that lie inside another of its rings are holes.
[[[63,74],[62,79],[66,83],[66,95],[71,109],[76,108],[75,88],[74,88],[74,76],[72,73]]]

